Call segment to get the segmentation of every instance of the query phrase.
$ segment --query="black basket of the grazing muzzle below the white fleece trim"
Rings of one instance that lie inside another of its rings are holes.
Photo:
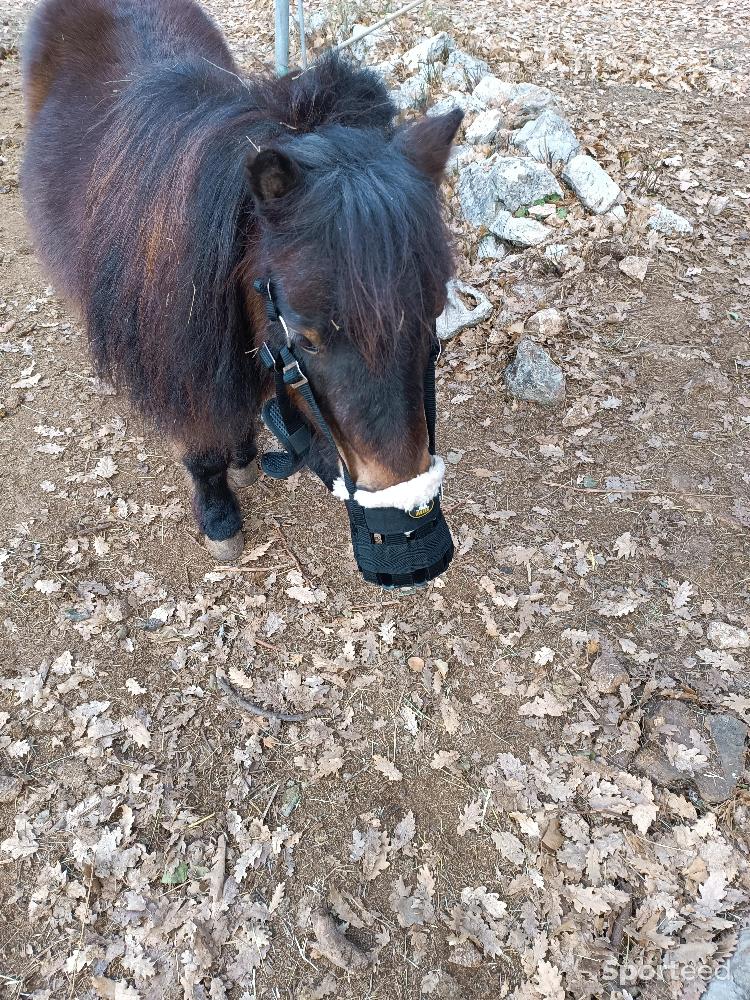
[[[370,583],[388,589],[423,587],[448,568],[453,539],[440,497],[410,511],[346,501],[354,558]]]

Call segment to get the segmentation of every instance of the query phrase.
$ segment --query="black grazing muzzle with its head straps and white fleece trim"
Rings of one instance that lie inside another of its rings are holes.
[[[320,412],[300,359],[294,353],[291,337],[279,313],[270,281],[256,281],[255,289],[266,299],[269,322],[278,323],[286,335],[286,346],[276,353],[268,343],[260,350],[260,359],[273,371],[276,396],[263,407],[263,423],[276,436],[282,451],[267,452],[261,466],[272,479],[287,479],[307,462],[312,445],[312,429],[294,405],[289,389],[296,389],[305,400],[316,429],[321,433],[341,466],[341,480],[334,488],[341,496],[349,514],[352,546],[359,571],[370,583],[381,587],[418,587],[443,573],[453,558],[453,539],[440,509],[442,488],[416,508],[405,511],[398,507],[371,506],[367,494],[358,490],[346,463],[339,454],[331,430]],[[424,374],[424,409],[430,455],[435,462],[435,360],[433,350]],[[438,460],[441,461],[441,460]],[[395,489],[398,489],[396,487]],[[384,491],[385,492],[385,491]],[[356,495],[365,503],[360,502]]]

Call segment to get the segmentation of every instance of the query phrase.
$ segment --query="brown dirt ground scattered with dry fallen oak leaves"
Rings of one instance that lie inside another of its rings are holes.
[[[211,5],[249,68],[270,6]],[[461,0],[389,36],[445,29],[548,86],[628,213],[571,199],[573,266],[498,269],[449,178],[459,275],[495,311],[441,358],[458,553],[409,597],[358,578],[307,474],[246,491],[245,556],[211,562],[24,226],[29,9],[0,6],[0,996],[699,997],[750,912],[750,776],[718,803],[691,779],[708,714],[750,723],[747,650],[709,638],[750,627],[741,5]],[[649,233],[657,201],[693,233]],[[543,306],[551,410],[502,379]],[[217,671],[314,715],[254,717]],[[635,762],[664,699],[698,720],[669,731],[682,784]]]

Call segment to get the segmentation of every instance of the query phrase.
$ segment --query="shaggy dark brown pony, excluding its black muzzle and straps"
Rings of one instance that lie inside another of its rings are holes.
[[[22,186],[100,374],[181,449],[209,548],[237,554],[255,475],[253,279],[270,279],[363,489],[429,465],[422,373],[451,258],[437,185],[460,112],[397,128],[335,57],[243,78],[192,0],[43,0],[23,52]],[[304,409],[304,406],[302,406]],[[333,449],[311,462],[331,485]]]

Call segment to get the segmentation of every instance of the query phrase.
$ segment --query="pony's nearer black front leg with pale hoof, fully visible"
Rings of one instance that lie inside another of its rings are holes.
[[[227,482],[229,457],[218,451],[188,453],[182,463],[193,483],[193,510],[206,548],[220,562],[239,558],[242,516]]]

